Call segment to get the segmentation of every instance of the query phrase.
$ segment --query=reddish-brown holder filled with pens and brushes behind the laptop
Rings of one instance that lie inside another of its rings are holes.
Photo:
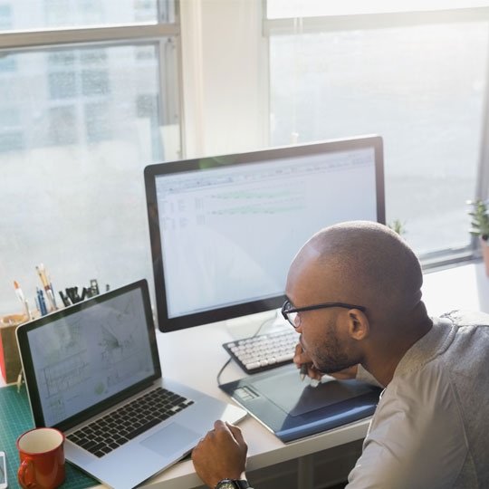
[[[56,291],[53,288],[51,276],[44,265],[37,265],[35,271],[41,284],[36,287],[34,301],[29,302],[19,283],[14,281],[14,292],[22,304],[22,309],[19,312],[0,317],[0,369],[2,369],[2,376],[7,384],[18,381],[21,372],[21,361],[15,339],[15,329],[19,324],[82,302],[100,293],[98,281],[91,279],[88,286],[66,287],[64,292],[60,290],[58,292],[59,297],[56,299]],[[109,285],[106,285],[106,290],[109,289]],[[35,304],[34,308],[31,307],[32,303]]]

